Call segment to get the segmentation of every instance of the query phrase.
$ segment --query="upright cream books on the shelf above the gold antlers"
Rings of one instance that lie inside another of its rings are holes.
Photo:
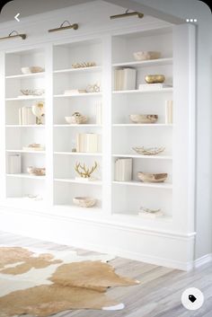
[[[99,152],[99,137],[95,133],[78,133],[76,135],[76,152]]]

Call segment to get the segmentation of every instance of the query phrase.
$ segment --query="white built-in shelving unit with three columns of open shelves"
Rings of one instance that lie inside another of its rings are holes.
[[[57,236],[62,231],[68,232],[66,236],[69,234],[64,222],[67,219],[70,232],[73,232],[70,233],[73,234],[71,242],[80,240],[78,234],[82,233],[84,241],[89,241],[84,247],[91,246],[96,251],[101,251],[96,242],[96,234],[101,235],[101,231],[107,236],[107,239],[100,238],[105,247],[103,251],[110,251],[109,244],[114,243],[114,252],[137,260],[142,258],[140,254],[148,252],[149,259],[152,254],[155,259],[166,258],[166,246],[172,250],[177,246],[183,250],[179,258],[172,254],[173,266],[177,267],[176,263],[185,258],[186,251],[191,250],[194,243],[190,225],[193,219],[190,131],[194,122],[190,65],[194,61],[194,37],[191,25],[172,26],[155,20],[152,24],[150,19],[148,29],[148,17],[146,21],[145,26],[130,22],[128,28],[120,22],[114,30],[107,24],[107,30],[101,32],[94,32],[92,26],[79,37],[76,33],[70,37],[66,33],[64,38],[63,34],[55,35],[46,43],[40,40],[41,44],[35,42],[21,47],[17,42],[13,48],[1,52],[1,206],[24,209],[28,215],[31,211],[37,212],[40,219],[52,216],[50,221]],[[136,61],[133,53],[139,50],[160,51],[162,57]],[[86,61],[95,62],[96,66],[72,66]],[[21,68],[25,66],[42,66],[45,72],[22,75]],[[132,90],[115,91],[114,72],[125,67],[137,70],[137,85]],[[169,86],[139,90],[139,84],[146,84],[145,76],[151,74],[165,75],[165,84]],[[65,93],[86,90],[93,84],[100,86],[99,92]],[[21,93],[23,89],[36,88],[45,89],[45,95],[23,96]],[[45,102],[45,123],[21,125],[19,109],[32,107],[39,101]],[[165,120],[165,101],[173,101],[173,122],[170,124]],[[100,104],[101,122],[96,120],[96,107]],[[88,122],[68,125],[65,117],[74,112],[82,113]],[[155,114],[158,120],[154,124],[134,124],[129,119],[130,114]],[[97,152],[75,152],[76,135],[84,133],[98,135]],[[33,143],[45,145],[45,151],[23,150]],[[132,149],[136,146],[164,146],[165,151],[156,156],[139,155]],[[8,172],[8,156],[13,154],[22,157],[22,171],[17,174]],[[132,159],[131,181],[115,181],[118,158]],[[76,178],[76,163],[91,168],[95,162],[95,181]],[[29,175],[28,166],[45,167],[46,176]],[[137,172],[167,172],[168,178],[163,183],[144,183],[138,181]],[[96,206],[75,207],[73,198],[79,196],[96,198]],[[38,200],[31,197],[38,197]],[[143,218],[139,216],[141,207],[160,208],[164,216]],[[61,221],[60,232],[56,219]],[[76,224],[80,224],[77,232]],[[111,240],[114,234],[117,234],[116,242]],[[150,239],[148,234],[152,234],[153,243],[160,236],[164,251],[160,249],[158,254],[152,241],[152,249],[146,250],[143,241]]]

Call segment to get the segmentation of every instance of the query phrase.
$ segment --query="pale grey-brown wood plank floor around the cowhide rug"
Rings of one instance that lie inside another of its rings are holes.
[[[66,245],[40,242],[31,238],[0,233],[0,244],[35,247],[45,250],[75,250]],[[91,251],[76,250],[79,254]],[[135,260],[117,258],[110,264],[119,274],[141,281],[139,286],[109,289],[108,294],[126,305],[117,312],[77,310],[58,313],[55,317],[212,317],[212,263],[191,272],[167,269]],[[1,287],[1,286],[0,286]],[[198,311],[187,311],[181,305],[181,293],[188,287],[198,287],[205,303]],[[26,315],[25,315],[26,316]],[[28,315],[29,316],[29,315]]]

